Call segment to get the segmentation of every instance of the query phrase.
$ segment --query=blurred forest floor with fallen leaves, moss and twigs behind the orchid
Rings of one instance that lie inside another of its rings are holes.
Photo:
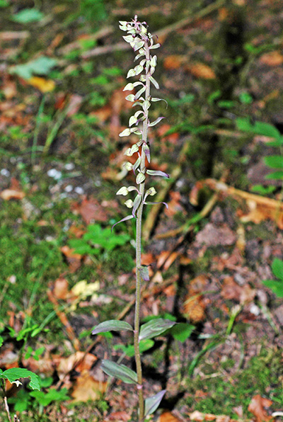
[[[91,336],[134,315],[134,222],[110,233],[134,183],[122,164],[137,139],[118,136],[134,58],[118,21],[134,14],[161,42],[151,169],[171,175],[153,182],[168,208],[144,215],[141,314],[180,323],[146,344],[144,393],[167,390],[158,422],[279,421],[281,0],[0,0],[0,368],[42,384],[7,384],[11,414],[137,418],[132,385],[100,369],[131,338]]]

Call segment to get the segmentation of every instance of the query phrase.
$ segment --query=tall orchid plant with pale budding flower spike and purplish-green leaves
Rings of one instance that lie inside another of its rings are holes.
[[[148,141],[149,127],[157,125],[163,117],[159,117],[153,122],[149,120],[149,108],[151,103],[161,101],[161,98],[151,97],[151,84],[156,89],[159,89],[158,82],[154,79],[154,72],[157,64],[156,55],[151,55],[152,50],[160,47],[160,44],[154,43],[154,37],[149,33],[145,22],[139,22],[137,16],[131,22],[120,21],[120,29],[125,31],[127,35],[123,38],[137,53],[134,61],[141,59],[139,64],[133,69],[129,69],[127,78],[132,76],[139,76],[138,81],[129,82],[125,86],[124,91],[134,91],[139,87],[137,93],[129,94],[126,99],[133,103],[133,107],[140,109],[129,118],[129,127],[120,133],[120,137],[128,137],[135,134],[139,136],[139,140],[132,144],[125,152],[126,156],[133,156],[137,154],[137,160],[134,164],[127,161],[125,168],[127,171],[133,171],[136,178],[136,186],[122,186],[117,191],[117,195],[128,195],[131,192],[135,193],[134,200],[128,199],[125,205],[132,208],[132,213],[127,217],[115,223],[114,226],[120,222],[125,222],[129,219],[136,219],[136,301],[134,313],[134,326],[131,326],[126,321],[110,320],[104,321],[96,326],[92,333],[98,334],[107,331],[132,331],[134,337],[134,358],[136,363],[136,372],[129,369],[125,365],[114,363],[112,360],[103,360],[103,371],[120,380],[137,386],[137,395],[139,402],[138,421],[144,421],[146,416],[153,414],[158,408],[163,395],[166,390],[158,392],[152,397],[144,399],[143,392],[143,377],[141,369],[141,342],[159,336],[164,331],[171,329],[175,324],[174,321],[168,319],[153,319],[140,327],[140,307],[141,307],[141,285],[143,282],[149,281],[149,270],[146,266],[141,265],[141,222],[144,205],[156,204],[149,202],[148,198],[156,194],[154,187],[146,189],[147,176],[161,176],[169,178],[167,173],[158,170],[151,170],[147,166],[151,161],[150,145]],[[165,204],[166,205],[166,204]],[[167,205],[166,205],[167,206]],[[113,227],[114,227],[113,226]]]

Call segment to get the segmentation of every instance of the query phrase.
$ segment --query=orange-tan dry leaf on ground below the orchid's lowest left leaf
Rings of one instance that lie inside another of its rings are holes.
[[[105,393],[107,382],[98,381],[88,371],[84,371],[76,379],[71,397],[73,401],[98,400]]]

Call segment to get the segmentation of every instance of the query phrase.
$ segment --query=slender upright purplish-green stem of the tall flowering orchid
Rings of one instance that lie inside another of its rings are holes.
[[[149,61],[149,46],[145,42],[146,60]],[[149,70],[149,69],[148,69]],[[146,91],[145,99],[149,98],[150,93],[150,80],[149,71],[146,72]],[[149,110],[145,110],[144,113],[144,125],[142,131],[142,140],[147,142],[147,131],[149,123]],[[146,154],[144,152],[144,144],[141,146],[141,172],[145,172],[146,169]],[[139,422],[144,421],[144,394],[142,391],[142,370],[141,370],[141,355],[139,352],[139,321],[140,321],[140,308],[141,308],[141,222],[142,222],[142,211],[143,211],[143,199],[144,199],[145,182],[142,182],[139,186],[139,192],[141,194],[141,204],[137,210],[137,233],[136,233],[136,306],[134,312],[134,358],[136,361],[137,368],[137,389],[139,398]]]

